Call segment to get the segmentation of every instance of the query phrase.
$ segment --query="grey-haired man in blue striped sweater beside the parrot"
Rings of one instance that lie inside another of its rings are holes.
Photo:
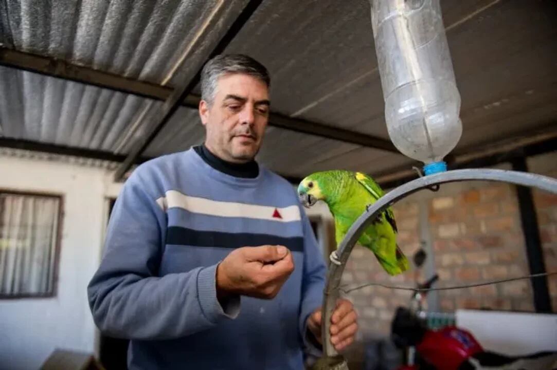
[[[126,181],[92,278],[95,323],[130,339],[130,369],[301,369],[319,354],[325,264],[294,187],[254,160],[270,78],[242,55],[202,72],[204,145]],[[354,340],[340,300],[331,342]]]

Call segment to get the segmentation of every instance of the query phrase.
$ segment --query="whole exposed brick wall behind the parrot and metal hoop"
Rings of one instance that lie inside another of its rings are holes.
[[[539,162],[545,166],[536,166]],[[532,162],[530,170],[557,177],[557,165],[548,169],[548,163],[557,164],[557,155]],[[533,194],[546,270],[557,271],[557,196],[538,191]],[[424,247],[431,248],[429,253],[440,277],[439,285],[462,285],[529,273],[514,186],[480,181],[446,184],[438,193],[421,191],[393,208],[399,228],[398,243],[408,258],[421,241],[430,240]],[[420,214],[427,218],[427,226],[423,228],[426,231],[422,232]],[[423,270],[426,278],[432,273],[432,270]],[[343,274],[343,284],[352,287],[368,282],[413,285],[413,279],[413,272],[389,277],[373,253],[361,246],[354,248]],[[550,278],[549,285],[556,310],[557,277]],[[533,310],[529,280],[448,290],[436,295],[437,309],[444,312],[457,308]],[[410,296],[411,293],[404,290],[382,287],[367,287],[346,294],[359,314],[360,339],[387,335],[394,309],[397,305],[407,305]]]

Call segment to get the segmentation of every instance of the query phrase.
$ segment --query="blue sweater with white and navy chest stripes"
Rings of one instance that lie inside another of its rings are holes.
[[[271,300],[224,307],[217,263],[233,248],[286,245],[295,269]],[[134,369],[301,369],[326,266],[294,188],[261,167],[224,174],[193,149],[146,162],[114,205],[87,293],[99,329],[130,339]]]

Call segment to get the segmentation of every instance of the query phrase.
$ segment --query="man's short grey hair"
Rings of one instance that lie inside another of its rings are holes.
[[[271,86],[267,68],[255,59],[243,54],[217,55],[209,60],[201,71],[201,98],[213,103],[218,78],[231,73],[251,75]]]

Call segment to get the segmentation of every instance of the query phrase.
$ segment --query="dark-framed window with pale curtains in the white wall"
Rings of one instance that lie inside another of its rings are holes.
[[[0,191],[0,298],[52,297],[60,196]]]

